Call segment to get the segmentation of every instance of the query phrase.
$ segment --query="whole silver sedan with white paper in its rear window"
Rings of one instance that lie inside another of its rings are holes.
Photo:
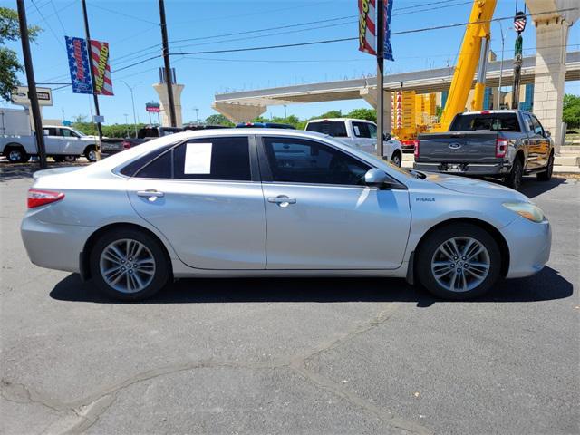
[[[535,274],[551,245],[515,190],[278,129],[185,131],[36,172],[22,237],[35,265],[129,301],[196,276],[393,276],[467,299]]]

